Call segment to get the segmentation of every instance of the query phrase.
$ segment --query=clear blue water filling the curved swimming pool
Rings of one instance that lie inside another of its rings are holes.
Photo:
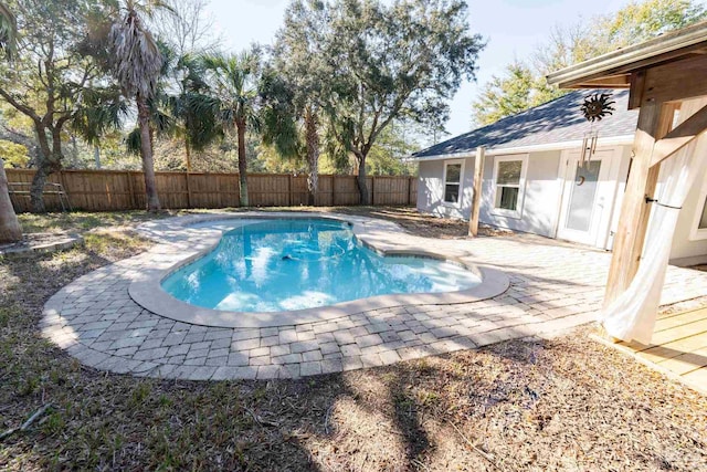
[[[456,264],[387,256],[363,247],[348,223],[265,220],[223,234],[202,259],[162,281],[192,305],[281,312],[393,293],[455,292],[479,283]]]

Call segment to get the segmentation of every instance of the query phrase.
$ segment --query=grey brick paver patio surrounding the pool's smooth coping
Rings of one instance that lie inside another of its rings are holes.
[[[209,213],[144,224],[139,231],[158,244],[86,274],[52,296],[44,308],[44,336],[83,364],[113,373],[192,380],[298,378],[546,336],[592,322],[611,258],[541,238],[426,239],[389,221],[341,216],[365,225],[376,247],[436,252],[500,270],[510,285],[471,303],[362,305],[359,312],[320,322],[245,328],[179,322],[130,297],[128,287],[146,272],[171,263],[175,253],[212,244],[201,242],[200,230],[186,230],[184,224],[254,214],[263,213]],[[668,268],[662,304],[703,295],[707,273]]]

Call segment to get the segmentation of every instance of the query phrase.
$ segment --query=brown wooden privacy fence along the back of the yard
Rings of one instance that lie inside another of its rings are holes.
[[[8,181],[31,182],[32,169],[6,169]],[[238,174],[156,172],[157,192],[166,209],[240,207]],[[133,170],[62,170],[50,182],[61,183],[74,210],[112,211],[143,209],[145,179]],[[372,204],[414,204],[415,177],[368,177]],[[18,188],[18,186],[14,186]],[[24,187],[27,189],[27,187]],[[247,193],[251,207],[297,207],[307,204],[307,177],[287,174],[250,174]],[[15,211],[31,211],[27,193],[11,193]],[[45,195],[49,211],[61,210],[55,195]],[[360,203],[356,176],[319,176],[316,204],[319,207]]]

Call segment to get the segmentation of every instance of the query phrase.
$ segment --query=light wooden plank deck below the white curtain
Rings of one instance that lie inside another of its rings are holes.
[[[707,395],[707,307],[661,315],[651,345],[614,346]]]

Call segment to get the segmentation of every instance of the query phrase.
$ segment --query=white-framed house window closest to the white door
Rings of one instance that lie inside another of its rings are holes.
[[[494,213],[520,218],[527,161],[527,155],[496,158]]]

